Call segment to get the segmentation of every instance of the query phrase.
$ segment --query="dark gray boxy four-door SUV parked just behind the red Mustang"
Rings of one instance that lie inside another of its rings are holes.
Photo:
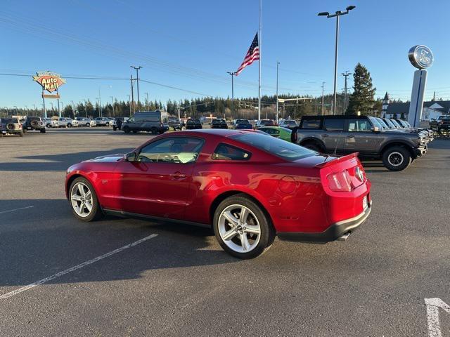
[[[384,131],[374,117],[304,116],[291,140],[317,152],[382,159],[391,171],[406,169],[427,152],[428,139],[418,133]]]

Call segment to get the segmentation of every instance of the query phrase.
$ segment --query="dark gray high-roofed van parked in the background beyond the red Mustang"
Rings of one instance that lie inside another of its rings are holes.
[[[122,122],[121,129],[124,133],[150,131],[156,135],[167,131],[167,126],[162,124],[160,110],[156,110],[136,112],[134,117],[131,117],[126,123]]]

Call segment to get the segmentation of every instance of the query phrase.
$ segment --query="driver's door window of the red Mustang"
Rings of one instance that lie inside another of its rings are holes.
[[[143,147],[137,161],[188,164],[197,159],[203,143],[200,138],[164,138]]]

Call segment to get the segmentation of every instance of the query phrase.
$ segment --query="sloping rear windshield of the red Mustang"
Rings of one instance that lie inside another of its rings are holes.
[[[267,137],[261,133],[245,133],[230,136],[230,138],[238,142],[252,145],[259,150],[274,154],[289,161],[294,161],[304,157],[314,156],[316,152],[308,150],[305,147],[295,145],[274,137]]]

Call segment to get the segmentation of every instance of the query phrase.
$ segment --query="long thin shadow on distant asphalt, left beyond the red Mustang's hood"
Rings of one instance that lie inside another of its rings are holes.
[[[15,159],[31,159],[33,161],[19,161],[0,163],[0,171],[65,171],[69,166],[80,161],[93,159],[107,154],[121,154],[133,150],[131,147],[120,147],[107,151],[86,151],[63,154],[37,154],[33,156],[15,157]],[[41,160],[41,162],[37,161]]]

